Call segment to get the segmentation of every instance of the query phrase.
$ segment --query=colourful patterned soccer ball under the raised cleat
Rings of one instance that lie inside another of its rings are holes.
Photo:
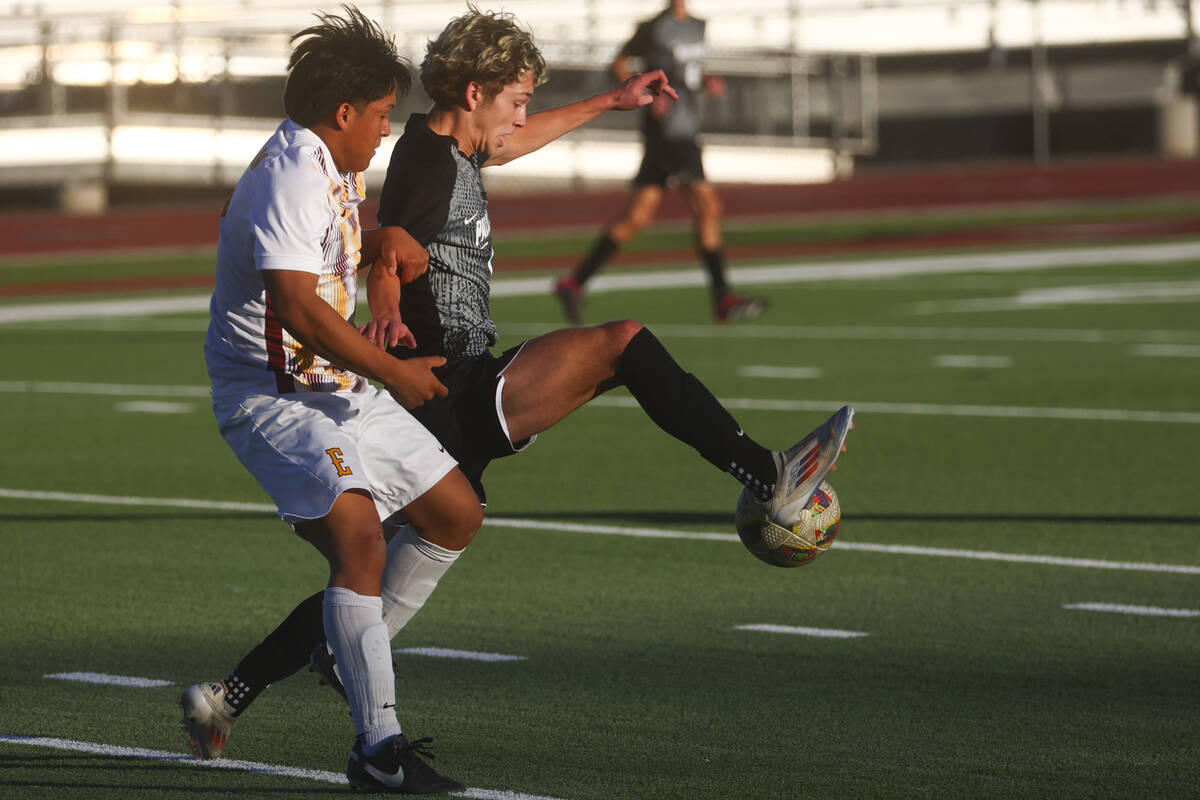
[[[804,566],[829,549],[838,535],[841,506],[828,481],[812,494],[791,529],[767,516],[767,510],[749,491],[742,489],[733,524],[738,537],[755,558],[772,566]]]

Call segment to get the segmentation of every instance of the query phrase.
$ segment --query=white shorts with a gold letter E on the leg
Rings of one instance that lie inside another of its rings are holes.
[[[221,435],[289,524],[319,519],[348,489],[385,519],[456,462],[391,395],[298,392],[214,398]]]

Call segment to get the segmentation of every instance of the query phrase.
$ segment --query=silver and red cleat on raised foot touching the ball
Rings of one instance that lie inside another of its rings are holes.
[[[800,512],[846,449],[846,434],[854,427],[853,419],[854,409],[842,405],[794,447],[774,453],[778,479],[766,509],[778,524],[791,528],[799,521]]]

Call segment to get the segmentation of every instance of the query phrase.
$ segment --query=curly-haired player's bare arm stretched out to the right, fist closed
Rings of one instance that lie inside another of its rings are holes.
[[[587,100],[538,112],[530,115],[526,120],[524,127],[517,128],[504,143],[504,148],[492,154],[484,166],[505,164],[514,158],[520,158],[546,146],[564,133],[590,122],[606,112],[628,112],[649,106],[660,95],[666,95],[672,100],[679,98],[676,90],[667,83],[662,70],[655,70],[654,72],[635,74],[619,86]]]

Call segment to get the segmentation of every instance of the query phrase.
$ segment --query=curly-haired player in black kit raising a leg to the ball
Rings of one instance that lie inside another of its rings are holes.
[[[472,8],[428,44],[421,83],[433,98],[397,142],[379,204],[383,225],[403,227],[428,252],[422,264],[372,270],[372,321],[364,335],[398,357],[438,355],[434,374],[449,390],[412,409],[460,463],[485,499],[482,473],[511,456],[593,397],[625,386],[664,431],[750,487],[776,519],[797,519],[833,469],[851,427],[844,407],[787,451],[746,435],[695,375],[676,363],[640,323],[620,320],[546,333],[499,355],[491,318],[492,240],[485,167],[503,164],[608,110],[673,96],[661,72],[632,76],[616,89],[527,115],[545,62],[532,36],[509,14]],[[457,549],[433,545],[394,519],[382,596],[392,636],[424,606]],[[304,601],[226,678],[236,717],[269,684],[310,662],[340,686],[324,644],[320,593]]]

